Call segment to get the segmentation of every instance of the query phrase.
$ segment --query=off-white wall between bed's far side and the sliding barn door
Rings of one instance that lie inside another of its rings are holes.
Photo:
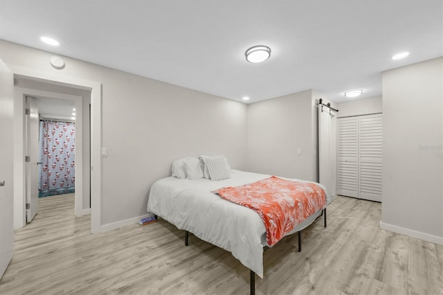
[[[316,109],[311,90],[248,105],[248,170],[316,181]]]

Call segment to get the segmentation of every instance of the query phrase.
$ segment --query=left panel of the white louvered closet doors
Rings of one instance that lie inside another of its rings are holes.
[[[338,118],[337,194],[359,195],[359,120],[357,117]]]

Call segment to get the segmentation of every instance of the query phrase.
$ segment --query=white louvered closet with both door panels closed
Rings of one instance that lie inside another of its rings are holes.
[[[382,115],[337,122],[337,194],[381,202]]]

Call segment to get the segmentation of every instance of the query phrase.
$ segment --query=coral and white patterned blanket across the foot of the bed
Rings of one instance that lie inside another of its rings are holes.
[[[325,190],[320,186],[275,176],[243,186],[219,188],[213,193],[257,212],[266,227],[269,247],[326,204]]]

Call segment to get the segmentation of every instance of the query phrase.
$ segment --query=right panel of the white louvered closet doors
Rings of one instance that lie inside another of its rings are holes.
[[[381,202],[381,114],[359,117],[359,197]]]

